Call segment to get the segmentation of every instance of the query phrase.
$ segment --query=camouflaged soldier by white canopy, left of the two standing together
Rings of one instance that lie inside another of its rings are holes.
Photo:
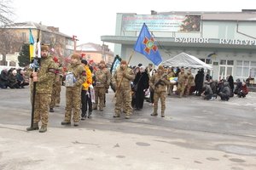
[[[188,75],[185,73],[184,68],[181,68],[180,72],[177,75],[177,91],[179,93],[179,97],[182,98],[185,88],[188,85]]]

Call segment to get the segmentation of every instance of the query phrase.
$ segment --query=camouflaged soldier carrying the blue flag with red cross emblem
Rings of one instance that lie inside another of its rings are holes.
[[[119,69],[114,72],[112,77],[113,87],[116,89],[115,114],[113,117],[119,117],[120,112],[123,109],[123,112],[126,114],[125,118],[129,119],[132,111],[131,81],[134,80],[135,75],[130,68],[126,67],[126,61],[122,60]]]

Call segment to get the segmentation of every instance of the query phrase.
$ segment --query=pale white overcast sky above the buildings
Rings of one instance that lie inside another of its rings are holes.
[[[77,36],[78,44],[102,44],[101,36],[114,35],[117,13],[150,14],[168,11],[234,11],[256,8],[256,0],[12,0],[15,22],[42,22]],[[112,43],[107,43],[113,49]]]

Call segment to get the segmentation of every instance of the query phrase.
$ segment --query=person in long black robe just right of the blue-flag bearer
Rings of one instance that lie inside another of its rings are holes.
[[[136,111],[143,109],[144,103],[144,90],[148,88],[149,84],[148,72],[145,70],[145,66],[140,66],[140,71],[137,72],[136,77],[133,81],[133,86],[137,85],[137,89],[133,89],[135,93],[135,98],[132,100],[132,104]]]

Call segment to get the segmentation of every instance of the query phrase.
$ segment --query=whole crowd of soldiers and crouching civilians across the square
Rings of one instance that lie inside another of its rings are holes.
[[[212,77],[205,75],[203,69],[194,77],[191,70],[185,68],[159,65],[154,69],[152,64],[131,67],[125,60],[121,60],[119,68],[111,73],[105,61],[92,66],[80,54],[72,54],[70,63],[64,69],[60,60],[51,56],[49,47],[45,45],[41,46],[41,57],[38,71],[31,66],[25,70],[1,72],[1,88],[24,88],[30,82],[33,92],[34,85],[37,85],[35,94],[31,95],[34,116],[27,131],[47,131],[49,111],[54,112],[54,108],[60,106],[63,80],[66,86],[66,107],[61,125],[71,125],[73,120],[75,127],[86,118],[91,118],[94,110],[104,111],[110,86],[115,93],[113,118],[125,114],[125,119],[129,119],[133,111],[143,110],[145,94],[149,96],[149,105],[153,106],[151,116],[158,116],[160,110],[161,117],[165,117],[166,95],[183,98],[195,94],[207,100],[219,96],[228,101],[234,94],[239,98],[245,98],[248,94],[245,82],[237,79],[234,87],[231,75],[213,81]]]

